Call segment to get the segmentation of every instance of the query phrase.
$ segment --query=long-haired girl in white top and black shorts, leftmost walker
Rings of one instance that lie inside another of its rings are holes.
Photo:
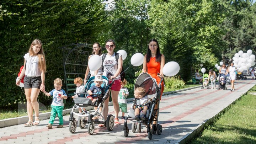
[[[46,72],[46,60],[42,47],[42,42],[35,39],[24,56],[24,67],[16,82],[20,85],[21,79],[24,78],[24,89],[27,100],[28,122],[24,124],[25,127],[38,126],[40,123],[39,117],[39,103],[37,97],[40,90],[44,91],[44,77]],[[33,122],[33,110],[35,112],[35,121]]]

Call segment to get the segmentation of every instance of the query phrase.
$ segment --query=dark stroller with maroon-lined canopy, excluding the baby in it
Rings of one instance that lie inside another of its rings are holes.
[[[150,98],[151,101],[149,101],[150,105],[148,108],[148,111],[146,113],[146,119],[141,120],[141,121],[133,121],[132,123],[132,132],[134,133],[137,129],[137,132],[140,133],[141,131],[141,123],[147,126],[147,133],[148,133],[148,138],[152,139],[153,134],[160,135],[162,133],[162,126],[158,124],[158,118],[156,116],[159,115],[159,105],[160,105],[160,95],[161,95],[161,83],[162,80],[160,81],[159,86],[157,85],[156,81],[147,73],[142,73],[139,75],[135,82],[134,89],[137,87],[143,87],[146,90],[146,96]],[[138,100],[139,101],[139,100]],[[129,134],[129,128],[127,126],[127,120],[128,118],[134,118],[135,117],[135,111],[133,109],[134,105],[137,103],[136,98],[133,99],[133,104],[128,112],[127,117],[125,118],[124,121],[124,137],[128,137]],[[155,105],[158,103],[158,108],[155,108]],[[148,103],[145,103],[146,105]],[[143,106],[144,106],[143,105]],[[131,120],[132,121],[132,120]],[[151,124],[153,121],[156,121],[157,124],[152,125],[152,129],[150,129]]]

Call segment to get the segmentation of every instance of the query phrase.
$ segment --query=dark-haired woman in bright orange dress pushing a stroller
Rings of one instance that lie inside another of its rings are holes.
[[[142,72],[143,73],[148,72],[148,74],[150,74],[152,78],[155,78],[156,82],[159,84],[161,78],[164,78],[164,74],[162,72],[164,65],[165,65],[165,57],[163,54],[160,53],[158,41],[156,39],[151,39],[148,44],[147,54],[144,57]],[[158,73],[160,75],[158,75]],[[164,92],[164,82],[162,82],[161,84],[160,100],[163,92]],[[155,105],[155,109],[156,108],[158,108],[158,103]],[[153,124],[156,124],[156,121],[154,121]]]

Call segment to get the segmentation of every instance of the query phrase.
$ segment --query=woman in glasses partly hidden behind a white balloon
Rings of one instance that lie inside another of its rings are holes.
[[[94,43],[92,45],[92,55],[99,55],[99,56],[101,56],[101,46],[100,46],[100,43],[96,42],[96,43]],[[89,59],[92,57],[92,55],[89,56],[88,62],[89,62]],[[89,74],[89,71],[91,73],[91,77],[95,76],[95,75],[102,75],[103,74],[102,67],[100,67],[100,69],[98,69],[96,71],[91,71],[89,66],[87,66],[87,69],[86,69],[86,72],[85,72],[84,85],[86,84],[87,76]]]

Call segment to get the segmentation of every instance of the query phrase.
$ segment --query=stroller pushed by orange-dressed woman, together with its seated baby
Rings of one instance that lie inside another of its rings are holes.
[[[133,133],[136,131],[136,129],[137,129],[137,132],[140,133],[142,124],[147,126],[147,133],[148,133],[149,139],[152,139],[153,134],[157,133],[158,135],[160,135],[162,133],[162,126],[161,124],[158,124],[159,104],[160,104],[159,100],[161,96],[161,83],[162,83],[162,79],[160,80],[160,83],[158,85],[156,83],[156,80],[153,79],[147,73],[142,73],[139,75],[134,86],[135,98],[133,99],[133,104],[130,107],[127,117],[125,118],[125,121],[124,121],[124,127],[123,127],[124,137],[128,137],[128,134],[129,134],[129,128],[127,124],[128,118],[134,118],[134,119],[136,118],[135,119],[136,121],[130,120],[133,122],[132,123]],[[143,94],[137,94],[137,92],[143,91],[139,87],[142,87],[145,90],[145,93],[143,92]],[[138,100],[136,97],[139,97],[140,99]],[[156,103],[159,103],[159,104],[158,104],[158,108],[155,109]],[[140,107],[144,108],[141,116],[139,116]],[[146,108],[148,109],[146,110]],[[156,124],[153,124],[154,121],[156,121]]]

